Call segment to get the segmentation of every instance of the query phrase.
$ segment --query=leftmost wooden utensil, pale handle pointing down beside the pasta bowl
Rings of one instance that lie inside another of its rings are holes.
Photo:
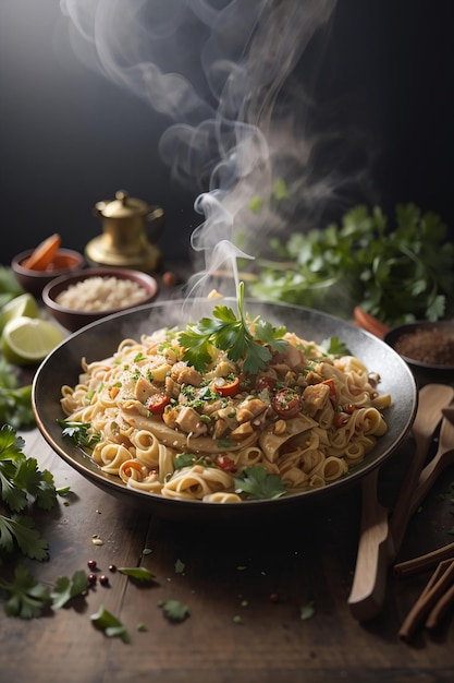
[[[361,482],[363,513],[355,575],[348,597],[349,610],[358,621],[376,616],[383,604],[388,558],[388,511],[377,498],[378,468]]]

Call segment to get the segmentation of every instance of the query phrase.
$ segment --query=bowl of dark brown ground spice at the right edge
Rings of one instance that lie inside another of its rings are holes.
[[[384,335],[409,366],[419,387],[431,382],[454,383],[454,321],[416,321]]]

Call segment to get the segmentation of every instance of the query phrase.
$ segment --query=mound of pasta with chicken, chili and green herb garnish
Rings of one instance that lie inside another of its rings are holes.
[[[82,359],[62,386],[63,433],[103,472],[168,499],[273,499],[347,475],[386,431],[380,378],[336,338],[250,320],[242,287],[238,310]]]

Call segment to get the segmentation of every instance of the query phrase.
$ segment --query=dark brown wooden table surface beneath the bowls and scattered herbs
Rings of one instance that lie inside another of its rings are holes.
[[[54,585],[96,560],[97,584],[85,598],[51,615],[23,621],[0,612],[0,681],[116,683],[274,681],[422,683],[451,681],[454,615],[408,644],[398,628],[430,573],[397,579],[389,573],[382,612],[358,623],[349,611],[358,542],[360,490],[354,484],[323,505],[302,505],[263,523],[213,527],[159,519],[126,507],[73,470],[37,430],[22,432],[25,452],[71,487],[51,513],[37,516],[49,542],[48,562],[25,562]],[[393,496],[412,455],[409,435],[380,472],[384,503]],[[409,525],[398,560],[453,541],[451,466]],[[102,544],[94,544],[94,537]],[[151,552],[144,554],[144,549]],[[177,571],[184,565],[184,571]],[[136,584],[109,565],[143,565],[156,582]],[[164,619],[159,603],[176,599],[189,616]],[[312,603],[314,615],[302,619]],[[128,630],[131,643],[108,638],[90,615],[105,606]]]

